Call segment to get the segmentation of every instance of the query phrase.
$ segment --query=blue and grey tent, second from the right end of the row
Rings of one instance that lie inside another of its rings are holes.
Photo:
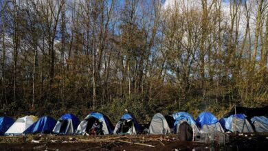
[[[230,117],[221,118],[220,123],[225,130],[231,132],[254,132],[246,117],[244,114],[230,115]]]

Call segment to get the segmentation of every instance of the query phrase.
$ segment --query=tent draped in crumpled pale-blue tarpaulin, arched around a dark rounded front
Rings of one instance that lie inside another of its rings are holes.
[[[199,135],[199,130],[197,128],[197,125],[195,124],[194,117],[186,112],[179,112],[172,115],[173,119],[175,119],[175,132],[179,133],[179,126],[183,122],[187,122],[191,127],[194,135]]]

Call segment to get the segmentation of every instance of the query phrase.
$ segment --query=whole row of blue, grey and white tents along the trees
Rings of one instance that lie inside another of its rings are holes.
[[[141,132],[148,132],[149,135],[166,135],[186,132],[185,135],[197,136],[201,132],[209,132],[210,130],[219,132],[268,132],[268,118],[254,116],[248,119],[245,114],[238,113],[218,120],[212,113],[203,112],[194,120],[194,117],[186,112],[165,116],[157,113],[150,121],[150,126],[143,130],[131,113],[122,115],[115,127],[106,115],[98,112],[89,113],[81,122],[78,117],[70,113],[61,116],[58,121],[49,116],[38,119],[30,115],[16,119],[16,121],[11,117],[0,117],[0,135],[29,133],[136,135]]]

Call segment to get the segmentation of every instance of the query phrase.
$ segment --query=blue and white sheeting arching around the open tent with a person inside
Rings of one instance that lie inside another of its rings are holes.
[[[77,128],[76,134],[84,134],[86,132],[87,124],[89,123],[89,119],[92,117],[98,119],[98,121],[102,124],[102,132],[104,135],[109,135],[111,132],[113,132],[113,125],[107,116],[103,115],[102,113],[92,112],[89,113],[89,115],[87,115],[83,121],[81,121]]]

